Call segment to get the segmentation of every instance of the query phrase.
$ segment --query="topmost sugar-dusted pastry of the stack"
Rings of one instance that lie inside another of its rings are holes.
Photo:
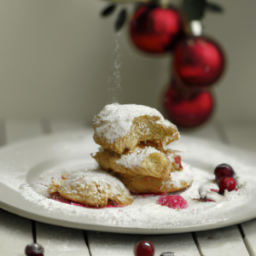
[[[176,125],[154,108],[140,105],[107,105],[94,118],[93,128],[95,142],[118,154],[140,142],[168,145],[179,138]]]

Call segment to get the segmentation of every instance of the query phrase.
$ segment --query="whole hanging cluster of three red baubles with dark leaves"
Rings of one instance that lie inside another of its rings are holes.
[[[116,3],[123,0],[112,1],[102,17],[114,14]],[[201,125],[210,118],[214,106],[207,90],[224,72],[224,54],[215,41],[201,34],[201,20],[206,11],[223,9],[208,0],[182,0],[177,9],[170,7],[171,0],[132,1],[141,4],[130,22],[131,41],[150,54],[173,51],[173,79],[164,97],[169,119],[183,127]],[[124,6],[118,11],[116,31],[128,16]]]

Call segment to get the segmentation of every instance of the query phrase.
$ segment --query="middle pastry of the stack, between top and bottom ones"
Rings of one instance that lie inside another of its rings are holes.
[[[137,147],[127,154],[117,154],[102,148],[92,156],[108,172],[134,176],[143,175],[165,179],[174,170],[174,154],[162,153],[152,147]]]

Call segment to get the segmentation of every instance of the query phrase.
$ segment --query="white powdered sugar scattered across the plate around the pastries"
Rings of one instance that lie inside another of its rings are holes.
[[[184,163],[183,165],[187,172],[188,166]],[[134,202],[130,206],[123,207],[122,212],[119,211],[119,208],[91,209],[53,201],[45,196],[47,188],[44,180],[49,178],[48,172],[44,172],[37,183],[22,185],[20,193],[26,200],[32,201],[39,207],[44,207],[50,212],[61,212],[70,218],[82,217],[86,223],[147,229],[170,229],[195,224],[218,223],[229,219],[232,212],[242,207],[254,196],[253,183],[256,182],[256,178],[253,177],[250,170],[243,168],[242,172],[238,173],[241,177],[238,191],[231,191],[218,203],[198,201],[196,199],[201,197],[199,193],[201,187],[218,189],[218,185],[212,183],[213,174],[201,169],[193,169],[195,180],[190,188],[176,193],[182,195],[189,204],[189,207],[179,211],[158,205],[159,196],[133,196]]]

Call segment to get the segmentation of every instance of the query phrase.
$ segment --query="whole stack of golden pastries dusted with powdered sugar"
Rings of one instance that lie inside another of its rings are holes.
[[[93,128],[101,146],[93,158],[132,192],[174,192],[193,182],[189,167],[167,147],[178,140],[177,127],[154,108],[110,104],[96,115]]]

